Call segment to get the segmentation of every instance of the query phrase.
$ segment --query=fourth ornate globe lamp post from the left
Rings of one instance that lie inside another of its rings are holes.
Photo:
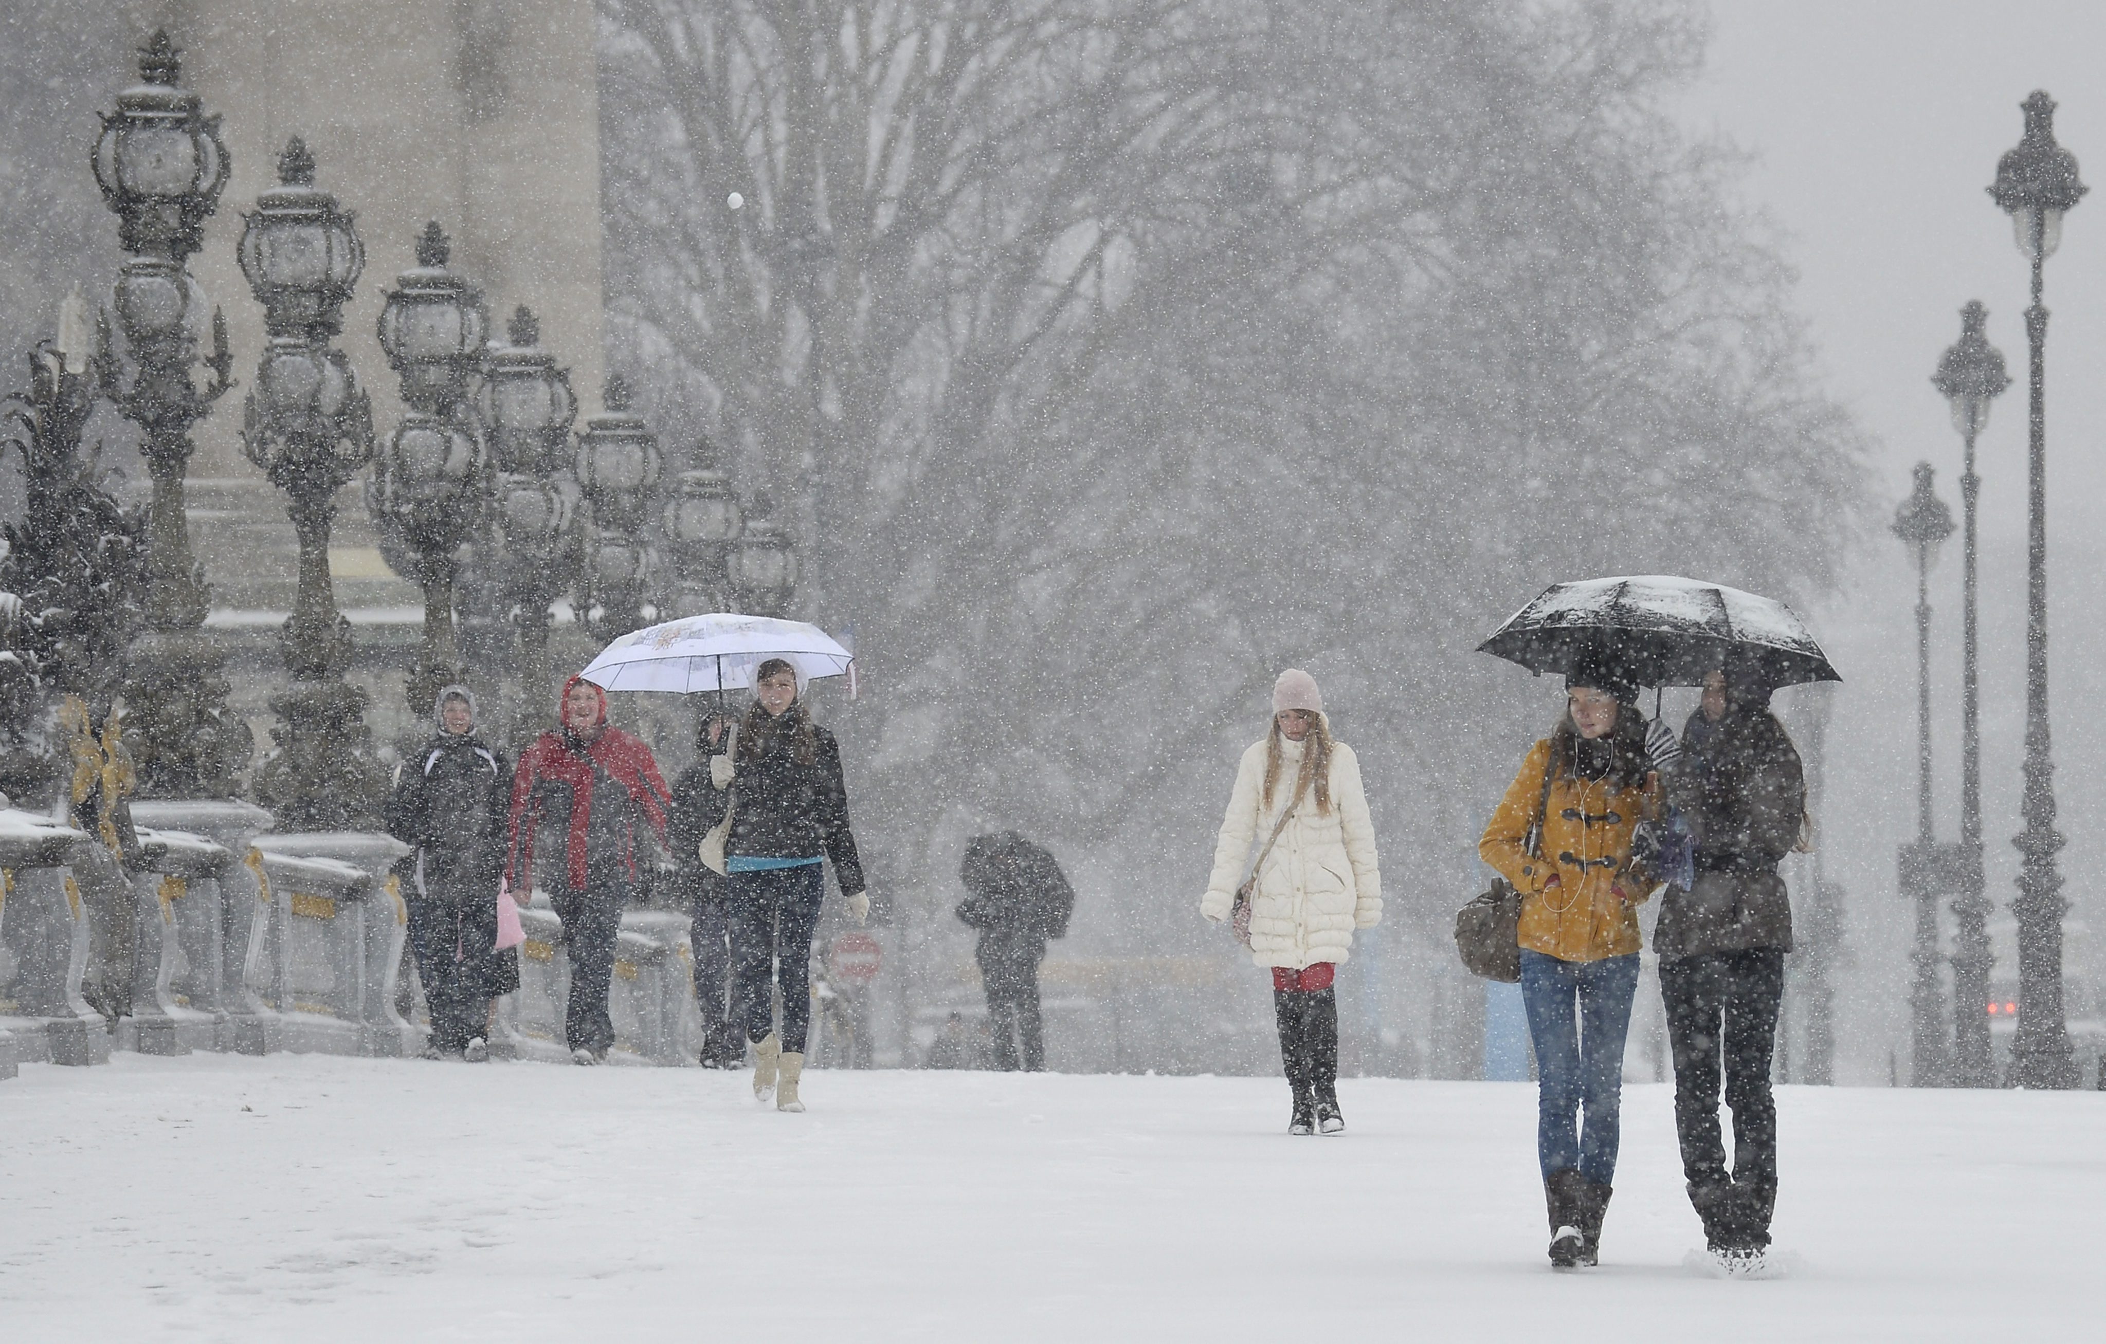
[[[520,634],[518,739],[552,716],[550,602],[577,577],[579,489],[564,449],[577,419],[571,373],[541,350],[529,308],[512,314],[510,343],[489,352],[476,413],[497,466],[499,571],[516,602]]]

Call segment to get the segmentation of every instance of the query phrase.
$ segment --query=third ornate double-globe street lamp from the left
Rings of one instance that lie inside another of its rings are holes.
[[[461,543],[474,533],[484,503],[482,428],[468,392],[482,362],[489,318],[482,295],[446,270],[451,251],[436,221],[423,225],[415,270],[396,278],[381,308],[381,350],[402,377],[411,411],[381,442],[366,480],[373,522],[396,556],[409,552],[398,573],[423,588],[423,649],[404,687],[419,712],[432,708],[442,685],[463,676],[453,634],[453,579]]]

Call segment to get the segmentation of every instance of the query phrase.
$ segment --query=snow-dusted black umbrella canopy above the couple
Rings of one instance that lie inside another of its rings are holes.
[[[1727,649],[1756,653],[1773,687],[1843,680],[1784,602],[1676,575],[1554,584],[1478,645],[1529,672],[1607,653],[1643,687],[1702,685]]]

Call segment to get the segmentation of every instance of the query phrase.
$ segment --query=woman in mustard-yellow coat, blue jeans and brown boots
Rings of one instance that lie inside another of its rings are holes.
[[[1556,1268],[1596,1262],[1613,1194],[1638,904],[1653,889],[1630,843],[1660,811],[1662,788],[1638,687],[1615,659],[1582,659],[1565,687],[1565,714],[1529,750],[1478,841],[1478,855],[1521,891],[1521,1001]]]

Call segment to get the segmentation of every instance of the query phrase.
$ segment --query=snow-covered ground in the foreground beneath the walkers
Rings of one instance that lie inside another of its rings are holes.
[[[0,1338],[2095,1340],[2106,1095],[1782,1091],[1790,1274],[1721,1281],[1632,1087],[1605,1264],[1533,1091],[118,1055],[0,1083]],[[1304,1333],[1308,1331],[1308,1333]]]

